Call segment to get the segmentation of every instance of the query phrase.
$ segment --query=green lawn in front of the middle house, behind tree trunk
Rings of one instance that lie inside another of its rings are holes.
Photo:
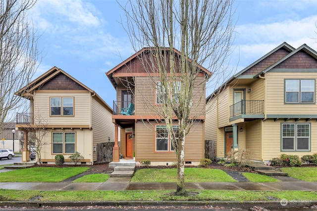
[[[176,169],[139,169],[132,182],[176,182]],[[185,168],[185,182],[236,182],[220,169]]]

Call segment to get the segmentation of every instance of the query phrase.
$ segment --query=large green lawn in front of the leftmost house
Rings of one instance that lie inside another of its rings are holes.
[[[34,167],[0,173],[0,182],[61,182],[89,167]]]

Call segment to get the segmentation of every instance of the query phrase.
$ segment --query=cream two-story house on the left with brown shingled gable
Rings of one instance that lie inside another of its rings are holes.
[[[25,131],[22,161],[29,161],[28,132],[43,127],[43,164],[54,164],[56,155],[63,155],[67,164],[75,152],[84,157],[79,164],[105,162],[103,143],[114,141],[112,109],[95,91],[53,67],[15,94],[30,101],[30,113],[18,113],[15,126]]]

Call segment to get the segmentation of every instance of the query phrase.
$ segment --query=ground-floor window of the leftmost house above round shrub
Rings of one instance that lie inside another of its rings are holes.
[[[75,133],[53,132],[53,153],[75,153]]]

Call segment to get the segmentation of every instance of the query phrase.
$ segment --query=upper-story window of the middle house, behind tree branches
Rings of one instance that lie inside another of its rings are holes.
[[[169,86],[170,84],[168,84]],[[160,83],[157,82],[156,84],[156,104],[163,104],[164,100],[167,100],[167,97],[169,94],[174,94],[175,101],[178,103],[179,101],[179,94],[180,94],[180,88],[181,88],[181,82],[173,82],[174,86],[174,93],[169,93],[169,90],[165,90],[165,87]]]

